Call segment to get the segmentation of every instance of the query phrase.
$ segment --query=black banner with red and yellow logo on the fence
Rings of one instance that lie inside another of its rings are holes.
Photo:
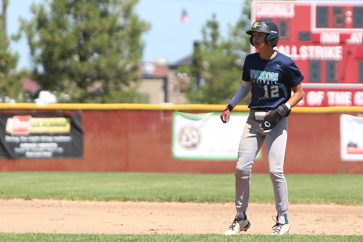
[[[81,115],[1,113],[0,157],[83,157]]]

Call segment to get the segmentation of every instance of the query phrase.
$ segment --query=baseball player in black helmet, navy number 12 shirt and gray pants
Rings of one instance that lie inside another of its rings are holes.
[[[277,210],[272,234],[289,234],[284,176],[287,116],[291,107],[303,98],[301,81],[304,77],[290,57],[273,49],[279,39],[279,29],[274,22],[257,20],[246,33],[251,35],[250,42],[259,52],[246,56],[242,86],[221,114],[223,123],[227,123],[232,109],[251,92],[250,113],[242,133],[235,172],[237,215],[224,234],[238,234],[251,226],[246,216],[250,177],[254,159],[264,142]]]

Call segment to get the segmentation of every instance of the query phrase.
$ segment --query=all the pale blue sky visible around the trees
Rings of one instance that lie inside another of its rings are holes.
[[[32,3],[49,3],[50,0],[9,0],[7,11],[8,34],[19,30],[19,17],[30,19]],[[242,15],[244,0],[139,0],[136,13],[151,24],[151,30],[142,37],[145,43],[143,62],[164,58],[174,64],[192,54],[193,42],[201,40],[201,28],[213,13],[220,24],[223,37],[227,37],[228,25],[236,24]],[[1,5],[1,3],[0,3]],[[181,13],[186,9],[189,22],[181,23]],[[29,69],[30,54],[25,38],[11,45],[20,54],[17,69]]]

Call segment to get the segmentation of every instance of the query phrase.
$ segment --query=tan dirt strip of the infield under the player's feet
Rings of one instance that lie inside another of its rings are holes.
[[[232,203],[0,200],[0,206],[3,233],[221,234],[235,216]],[[246,234],[270,234],[275,213],[273,204],[250,204]],[[291,234],[363,235],[363,206],[292,204],[289,222]]]

